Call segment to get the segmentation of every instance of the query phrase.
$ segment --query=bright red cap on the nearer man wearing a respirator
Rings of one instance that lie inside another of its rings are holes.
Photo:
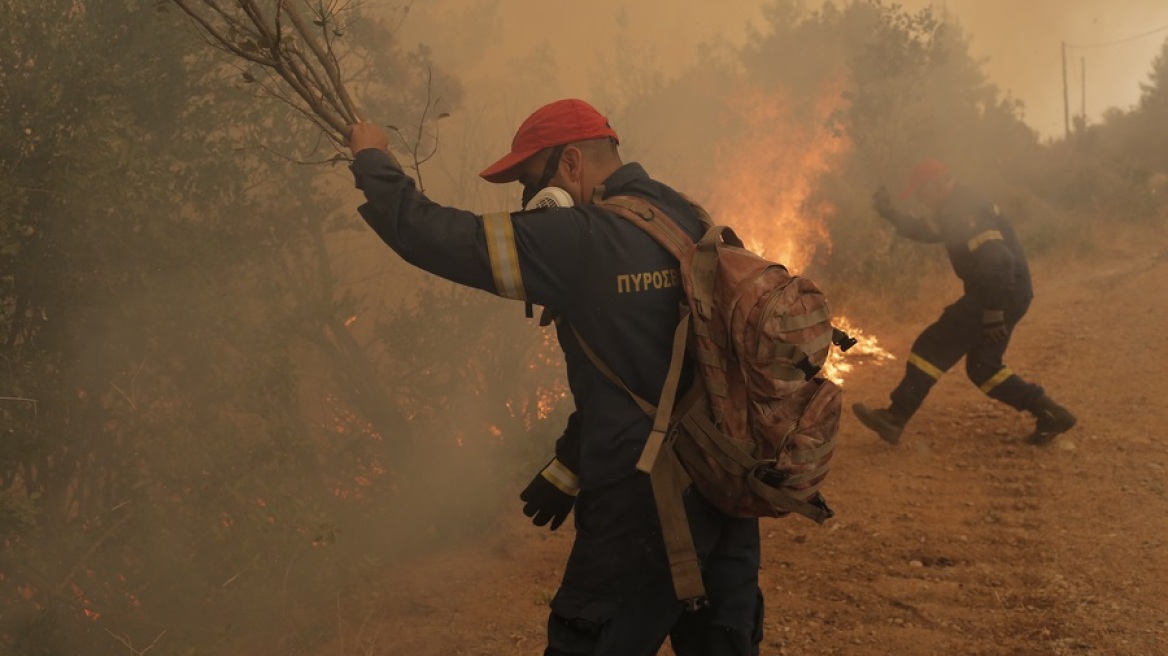
[[[596,107],[575,98],[556,100],[527,117],[512,139],[512,152],[479,175],[487,182],[514,182],[519,166],[540,151],[604,137],[617,139],[617,133]]]

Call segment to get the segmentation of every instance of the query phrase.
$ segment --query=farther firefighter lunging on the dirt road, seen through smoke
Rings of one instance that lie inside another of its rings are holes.
[[[884,441],[899,442],[929,390],[965,357],[966,374],[982,392],[1035,417],[1027,441],[1050,444],[1075,426],[1075,416],[1040,385],[1002,364],[1010,335],[1034,298],[1030,270],[1014,229],[996,205],[958,183],[936,159],[913,167],[902,197],[913,196],[932,211],[931,219],[897,211],[884,188],[876,191],[872,205],[901,236],[944,244],[965,293],[913,342],[891,405],[874,410],[855,404],[856,418]]]

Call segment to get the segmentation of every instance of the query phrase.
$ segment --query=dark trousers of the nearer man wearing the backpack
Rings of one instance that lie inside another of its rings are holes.
[[[758,654],[758,519],[722,515],[693,488],[686,511],[710,601],[696,613],[674,595],[648,476],[580,491],[544,656],[654,656],[666,637],[677,656]]]

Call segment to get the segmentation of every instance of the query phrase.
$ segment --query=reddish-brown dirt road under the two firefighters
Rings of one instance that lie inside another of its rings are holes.
[[[825,488],[836,518],[763,523],[763,654],[1168,655],[1168,247],[1138,239],[1035,273],[1007,362],[1079,425],[1026,446],[1030,420],[960,365],[898,447],[849,411]],[[899,360],[857,363],[849,406],[884,403],[939,308],[853,317]],[[516,503],[481,543],[392,572],[394,601],[327,652],[541,654],[570,542]]]

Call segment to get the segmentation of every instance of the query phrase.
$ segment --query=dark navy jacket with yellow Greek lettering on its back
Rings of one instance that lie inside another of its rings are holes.
[[[677,260],[640,228],[589,204],[482,216],[443,207],[376,149],[357,153],[352,170],[367,198],[361,216],[406,261],[552,308],[631,391],[659,398],[684,294]],[[701,233],[690,205],[638,163],[605,181],[603,196],[617,194],[645,198],[691,237]],[[572,332],[557,334],[579,420],[580,489],[614,482],[635,470],[651,420],[583,356]]]

